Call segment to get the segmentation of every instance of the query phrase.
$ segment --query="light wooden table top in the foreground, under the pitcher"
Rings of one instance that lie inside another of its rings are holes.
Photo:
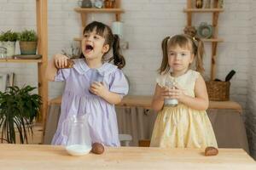
[[[255,170],[256,162],[241,149],[219,149],[218,156],[204,156],[201,149],[147,147],[105,148],[102,155],[69,156],[63,146],[0,144],[0,169],[196,169]]]

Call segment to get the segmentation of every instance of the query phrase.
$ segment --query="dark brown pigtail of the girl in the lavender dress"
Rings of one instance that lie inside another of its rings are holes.
[[[119,69],[125,66],[125,58],[120,54],[119,36],[115,34],[113,35],[113,64]]]

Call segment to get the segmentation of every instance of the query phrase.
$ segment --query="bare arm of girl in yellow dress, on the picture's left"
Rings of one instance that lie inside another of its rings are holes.
[[[154,111],[158,112],[163,108],[164,99],[165,96],[167,96],[166,93],[168,93],[168,91],[166,91],[165,88],[161,88],[158,84],[156,84],[154,97],[151,103],[152,109]]]

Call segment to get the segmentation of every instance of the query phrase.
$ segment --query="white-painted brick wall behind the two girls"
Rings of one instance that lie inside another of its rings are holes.
[[[73,37],[81,34],[80,15],[74,12],[75,7],[76,0],[49,0],[49,58],[67,48]],[[121,20],[125,22],[125,40],[130,45],[123,52],[127,60],[124,71],[131,82],[130,94],[154,93],[154,78],[161,61],[160,42],[166,36],[183,31],[186,25],[186,14],[183,13],[185,7],[186,0],[122,1],[125,14],[122,14]],[[34,0],[0,0],[0,11],[1,31],[35,28]],[[224,42],[218,45],[217,77],[224,79],[230,70],[236,71],[236,76],[231,80],[231,99],[246,109],[248,98],[247,108],[252,113],[256,109],[256,71],[253,71],[256,65],[255,13],[255,0],[225,0],[224,13],[219,15],[218,21],[219,37],[223,37]],[[197,24],[212,20],[210,14],[195,14],[195,17],[193,21]],[[110,25],[114,15],[90,14],[90,20],[100,20]],[[209,77],[209,43],[206,43],[206,48],[205,67],[206,76]],[[36,66],[0,64],[0,71],[15,71],[18,85],[26,82],[36,86]],[[62,83],[51,82],[49,98],[60,95],[62,88]]]

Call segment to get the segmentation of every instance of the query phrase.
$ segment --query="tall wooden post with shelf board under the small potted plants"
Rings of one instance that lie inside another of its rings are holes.
[[[47,0],[36,1],[37,14],[37,33],[38,33],[38,54],[42,59],[0,59],[0,62],[6,63],[37,63],[38,64],[38,94],[43,99],[43,105],[40,109],[39,122],[45,121],[48,105],[48,81],[44,74],[48,62],[48,26],[47,26]]]

